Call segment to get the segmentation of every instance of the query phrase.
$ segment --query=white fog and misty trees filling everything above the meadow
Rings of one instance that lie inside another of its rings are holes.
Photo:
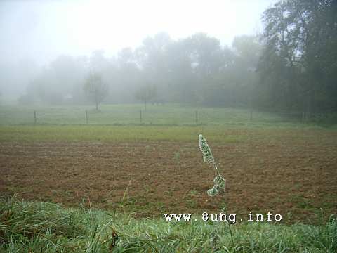
[[[0,100],[331,110],[336,16],[332,0],[1,1]]]

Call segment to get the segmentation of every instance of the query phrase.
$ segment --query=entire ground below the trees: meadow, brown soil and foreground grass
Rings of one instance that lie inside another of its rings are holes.
[[[252,116],[178,105],[1,106],[0,251],[109,252],[113,230],[112,252],[336,252],[336,124]],[[216,197],[206,193],[214,175],[199,134],[227,180]],[[227,223],[163,219],[224,205],[240,218],[283,219],[238,222],[232,237]]]

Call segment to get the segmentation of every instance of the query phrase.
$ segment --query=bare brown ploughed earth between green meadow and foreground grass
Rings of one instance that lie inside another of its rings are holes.
[[[337,211],[337,136],[251,138],[210,143],[227,180],[217,197],[214,173],[198,143],[0,143],[0,194],[132,213],[282,214],[313,222]],[[321,211],[322,208],[322,211]]]

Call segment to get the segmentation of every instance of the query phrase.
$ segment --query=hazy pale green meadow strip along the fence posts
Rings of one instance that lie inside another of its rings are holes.
[[[234,108],[132,106],[89,108],[0,108],[0,124],[252,124],[336,122],[336,112],[260,111]]]

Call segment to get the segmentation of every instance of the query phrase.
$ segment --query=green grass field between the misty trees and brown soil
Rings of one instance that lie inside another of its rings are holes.
[[[260,137],[267,136],[266,132],[275,135],[275,129],[302,133],[308,129],[333,131],[336,126],[303,124],[298,115],[269,112],[253,112],[251,120],[249,110],[233,108],[147,105],[145,112],[144,105],[102,105],[100,112],[95,112],[88,106],[0,107],[0,141],[194,141],[195,136],[204,133],[211,141],[231,142],[257,133]],[[228,134],[232,129],[241,131]]]

